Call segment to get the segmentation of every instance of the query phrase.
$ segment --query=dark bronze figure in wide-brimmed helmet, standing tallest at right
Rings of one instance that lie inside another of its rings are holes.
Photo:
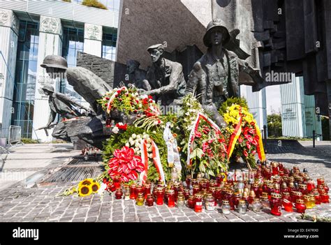
[[[226,123],[218,108],[229,97],[239,97],[240,72],[258,73],[247,61],[223,46],[230,40],[230,33],[221,20],[209,22],[203,37],[207,53],[193,66],[185,94],[196,94],[212,119],[221,127]]]

